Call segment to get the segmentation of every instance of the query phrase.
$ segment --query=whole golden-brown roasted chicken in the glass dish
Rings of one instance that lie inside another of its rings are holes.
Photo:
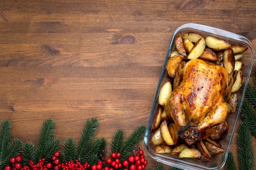
[[[225,122],[228,74],[224,67],[201,59],[184,66],[180,85],[166,105],[181,139],[190,146],[210,136],[209,129]]]

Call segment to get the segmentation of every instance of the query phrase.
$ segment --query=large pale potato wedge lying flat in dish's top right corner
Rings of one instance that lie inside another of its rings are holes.
[[[208,36],[205,38],[206,45],[214,51],[222,51],[230,48],[229,42],[224,39],[218,39],[216,37]]]

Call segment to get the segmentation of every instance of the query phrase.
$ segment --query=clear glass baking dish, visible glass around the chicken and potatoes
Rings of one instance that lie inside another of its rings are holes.
[[[212,161],[209,163],[204,163],[204,162],[198,161],[197,159],[194,159],[194,158],[178,158],[178,156],[176,156],[176,155],[171,156],[171,154],[169,154],[169,153],[157,154],[157,153],[155,153],[155,150],[154,150],[155,146],[150,142],[150,137],[152,136],[152,133],[153,133],[150,130],[150,125],[153,122],[153,119],[157,112],[157,107],[159,105],[158,104],[159,91],[160,91],[160,88],[162,87],[162,85],[166,82],[167,77],[168,77],[168,73],[166,71],[166,64],[168,62],[169,55],[171,54],[171,52],[173,50],[175,50],[175,36],[180,32],[182,34],[186,33],[186,32],[200,33],[201,35],[204,35],[204,37],[211,35],[211,36],[214,36],[214,37],[217,37],[220,39],[224,39],[224,40],[228,41],[230,44],[242,44],[242,45],[248,47],[248,49],[243,53],[243,58],[241,59],[241,61],[244,64],[242,71],[243,71],[243,83],[245,85],[243,89],[241,88],[237,92],[238,98],[240,99],[241,102],[238,103],[236,112],[228,115],[228,117],[227,117],[227,122],[229,123],[229,130],[228,130],[227,137],[225,137],[224,139],[221,139],[219,141],[220,144],[222,145],[222,148],[225,149],[225,152],[218,154],[216,156],[213,156]],[[148,120],[146,134],[144,137],[144,146],[145,146],[145,150],[148,153],[148,155],[158,162],[161,162],[161,163],[164,163],[169,166],[176,167],[176,168],[181,168],[184,170],[191,170],[191,169],[193,169],[193,170],[219,170],[219,169],[221,169],[225,165],[225,162],[227,160],[227,155],[229,153],[229,148],[231,145],[231,139],[234,135],[235,125],[237,123],[238,116],[240,114],[240,110],[241,110],[242,103],[243,103],[243,98],[245,96],[245,89],[247,87],[250,72],[253,67],[254,55],[255,55],[255,52],[254,52],[253,44],[247,38],[245,38],[241,35],[231,33],[229,31],[225,31],[222,29],[205,26],[205,25],[201,25],[201,24],[194,24],[194,23],[187,23],[187,24],[183,24],[180,27],[178,27],[175,30],[175,32],[173,33],[173,36],[171,38],[171,42],[170,42],[170,45],[169,45],[169,48],[168,48],[168,51],[166,54],[166,59],[164,61],[162,72],[159,77],[159,82],[157,85],[152,109],[151,109],[149,120]]]

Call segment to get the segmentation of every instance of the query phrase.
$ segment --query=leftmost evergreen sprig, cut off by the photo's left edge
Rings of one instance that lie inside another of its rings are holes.
[[[16,157],[21,150],[22,141],[13,139],[11,132],[11,121],[2,120],[0,122],[0,169],[4,169],[9,164],[11,157]]]

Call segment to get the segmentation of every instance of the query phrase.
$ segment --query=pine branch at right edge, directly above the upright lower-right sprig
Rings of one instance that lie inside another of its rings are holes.
[[[247,98],[243,101],[241,116],[244,118],[244,122],[247,124],[252,134],[256,136],[256,110],[248,102]]]

